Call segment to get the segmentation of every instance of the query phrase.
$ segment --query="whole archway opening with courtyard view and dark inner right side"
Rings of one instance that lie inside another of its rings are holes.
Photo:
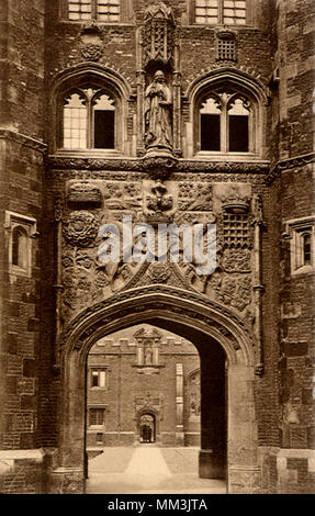
[[[91,347],[87,493],[225,492],[225,352],[189,337],[146,322]]]

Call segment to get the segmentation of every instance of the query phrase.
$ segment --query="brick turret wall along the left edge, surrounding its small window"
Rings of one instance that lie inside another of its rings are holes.
[[[3,493],[38,493],[44,2],[2,1],[0,11],[0,483]],[[9,270],[5,211],[36,221],[29,277]]]

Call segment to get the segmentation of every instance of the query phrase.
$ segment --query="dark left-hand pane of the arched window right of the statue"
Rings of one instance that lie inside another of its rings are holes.
[[[221,150],[221,106],[209,98],[200,110],[201,150]]]

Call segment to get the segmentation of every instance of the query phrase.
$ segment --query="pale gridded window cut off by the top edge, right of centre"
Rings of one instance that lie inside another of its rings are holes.
[[[199,24],[246,24],[246,0],[195,0],[194,21]]]

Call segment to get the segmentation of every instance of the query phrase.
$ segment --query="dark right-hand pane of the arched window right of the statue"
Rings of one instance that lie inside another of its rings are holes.
[[[228,149],[232,153],[248,153],[249,110],[241,99],[236,99],[228,108]]]

